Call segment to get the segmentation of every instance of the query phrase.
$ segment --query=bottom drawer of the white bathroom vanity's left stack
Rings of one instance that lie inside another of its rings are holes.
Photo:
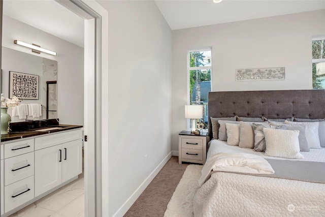
[[[17,181],[5,187],[5,212],[34,198],[34,176]]]

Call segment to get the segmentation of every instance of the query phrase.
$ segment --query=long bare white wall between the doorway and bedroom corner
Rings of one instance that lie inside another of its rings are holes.
[[[122,216],[171,155],[172,31],[153,1],[99,3],[109,12],[109,216]]]

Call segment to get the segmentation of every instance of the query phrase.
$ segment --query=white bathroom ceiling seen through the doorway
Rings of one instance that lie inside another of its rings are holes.
[[[84,19],[54,0],[4,0],[3,14],[84,47]]]

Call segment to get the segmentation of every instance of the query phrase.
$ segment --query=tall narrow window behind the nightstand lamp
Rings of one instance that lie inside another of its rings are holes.
[[[203,105],[203,118],[198,122],[204,123],[208,129],[208,94],[211,91],[212,59],[211,49],[191,50],[188,52],[188,104]],[[191,121],[188,121],[191,128]]]

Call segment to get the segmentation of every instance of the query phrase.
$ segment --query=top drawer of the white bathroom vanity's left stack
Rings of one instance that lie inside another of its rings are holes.
[[[20,154],[34,151],[34,139],[27,139],[19,142],[11,142],[5,145],[5,158],[11,158]]]

